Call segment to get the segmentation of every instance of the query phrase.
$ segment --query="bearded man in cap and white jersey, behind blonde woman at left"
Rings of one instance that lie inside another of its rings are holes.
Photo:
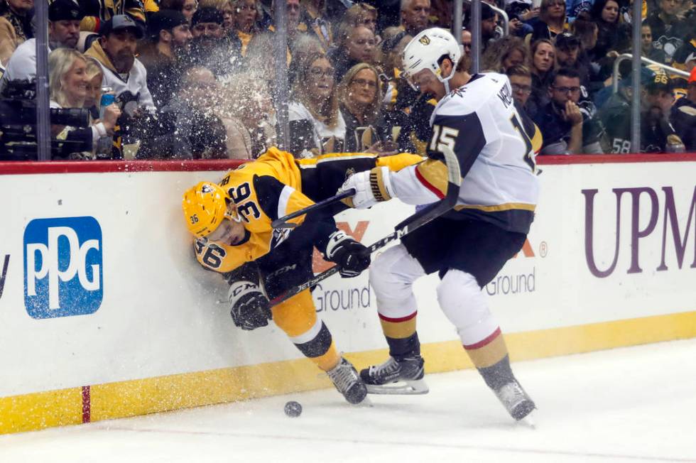
[[[92,43],[85,56],[99,62],[104,72],[103,87],[112,87],[116,98],[122,103],[129,103],[131,111],[124,108],[130,116],[136,115],[136,107],[155,111],[146,81],[143,63],[135,57],[138,39],[145,35],[141,26],[130,16],[118,14],[99,28],[101,37]]]

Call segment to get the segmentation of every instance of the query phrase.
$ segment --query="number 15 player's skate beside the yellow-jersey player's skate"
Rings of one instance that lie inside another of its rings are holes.
[[[423,364],[420,355],[400,360],[389,357],[383,364],[360,371],[360,377],[371,394],[425,394],[428,384],[423,380]]]

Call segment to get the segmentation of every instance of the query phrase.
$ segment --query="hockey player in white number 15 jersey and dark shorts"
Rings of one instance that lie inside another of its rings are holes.
[[[413,282],[437,272],[437,300],[464,350],[511,416],[522,420],[535,405],[513,375],[482,288],[520,251],[533,221],[540,135],[516,109],[508,77],[469,75],[465,61],[455,38],[440,28],[425,30],[408,43],[403,74],[438,102],[430,120],[428,159],[397,172],[375,168],[356,173],[339,190],[355,188],[349,199],[357,208],[393,197],[413,205],[437,202],[447,190],[445,147],[455,153],[462,175],[454,209],[404,236],[370,266],[390,358],[360,374],[372,393],[395,393],[390,391],[395,387],[396,393],[428,391]],[[392,384],[397,382],[401,386]]]

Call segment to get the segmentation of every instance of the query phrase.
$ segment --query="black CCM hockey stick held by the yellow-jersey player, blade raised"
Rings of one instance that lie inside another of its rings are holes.
[[[442,154],[445,155],[445,164],[447,165],[447,194],[445,195],[445,197],[442,198],[442,200],[435,202],[432,205],[425,207],[424,209],[421,209],[412,216],[408,217],[408,219],[396,225],[396,227],[394,227],[393,233],[384,236],[384,238],[379,239],[371,246],[369,246],[368,249],[370,251],[370,254],[372,254],[377,249],[384,248],[384,246],[391,243],[391,241],[396,241],[397,239],[400,239],[402,236],[406,236],[411,231],[418,229],[419,227],[423,227],[423,225],[427,224],[428,222],[437,217],[440,217],[442,214],[445,214],[445,212],[452,209],[452,207],[455,207],[455,205],[457,204],[457,197],[459,197],[460,193],[460,184],[462,183],[462,175],[460,171],[459,160],[457,160],[457,156],[455,156],[455,153],[448,146],[441,146],[440,151],[442,152]],[[320,203],[317,202],[316,205],[319,204]],[[290,288],[281,295],[278,295],[276,298],[271,299],[271,305],[278,305],[283,301],[288,300],[295,295],[298,295],[305,289],[312,288],[312,286],[316,285],[322,280],[329,278],[338,271],[338,266],[333,266],[327,271],[319,273],[318,275],[314,276],[314,278],[310,278],[309,280],[305,281],[305,283],[295,286],[295,288]]]

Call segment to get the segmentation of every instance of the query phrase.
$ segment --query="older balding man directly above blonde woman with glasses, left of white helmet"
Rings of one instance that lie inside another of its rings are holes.
[[[338,33],[337,47],[330,53],[336,68],[336,80],[359,62],[374,63],[374,33],[366,26],[345,25]]]

